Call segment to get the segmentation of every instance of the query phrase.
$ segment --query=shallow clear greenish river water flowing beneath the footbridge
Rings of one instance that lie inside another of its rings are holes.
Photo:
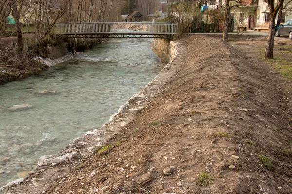
[[[24,178],[40,156],[107,123],[158,75],[162,65],[150,44],[112,39],[39,75],[0,85],[0,187]],[[20,104],[31,107],[9,110]]]

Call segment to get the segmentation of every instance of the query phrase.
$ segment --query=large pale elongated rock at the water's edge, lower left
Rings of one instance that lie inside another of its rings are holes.
[[[62,156],[42,156],[38,160],[38,166],[44,165],[52,165],[53,163],[56,164],[64,164],[64,163],[73,163],[76,159],[78,159],[80,155],[77,152],[67,153]]]

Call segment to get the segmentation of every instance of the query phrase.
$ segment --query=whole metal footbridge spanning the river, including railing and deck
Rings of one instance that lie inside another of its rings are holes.
[[[56,23],[52,29],[68,38],[165,38],[177,31],[177,23],[148,22]]]

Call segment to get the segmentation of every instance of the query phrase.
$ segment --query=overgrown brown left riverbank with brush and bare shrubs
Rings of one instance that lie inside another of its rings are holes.
[[[16,81],[35,75],[47,67],[62,63],[73,58],[68,54],[74,51],[84,51],[105,40],[55,40],[53,38],[44,41],[44,45],[39,50],[39,56],[33,56],[32,48],[28,49],[26,57],[16,61],[16,37],[6,37],[0,39],[0,84],[9,81]],[[33,45],[33,35],[24,36],[24,42]],[[32,46],[30,46],[32,47]],[[18,64],[18,65],[16,65]]]

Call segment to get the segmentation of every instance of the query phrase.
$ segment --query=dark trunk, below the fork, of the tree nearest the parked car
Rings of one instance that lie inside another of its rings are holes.
[[[268,41],[267,41],[267,46],[266,46],[266,51],[265,51],[265,58],[267,59],[273,59],[275,23],[276,23],[275,20],[276,20],[276,15],[270,15]]]

